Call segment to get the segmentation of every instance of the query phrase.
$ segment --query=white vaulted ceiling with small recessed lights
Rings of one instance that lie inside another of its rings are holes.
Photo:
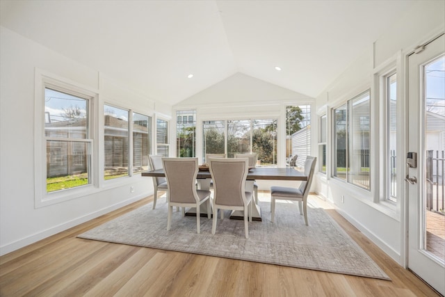
[[[237,72],[316,97],[415,2],[1,0],[0,21],[176,104]]]

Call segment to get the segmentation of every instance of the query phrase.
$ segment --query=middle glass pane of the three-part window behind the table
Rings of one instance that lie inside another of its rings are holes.
[[[250,120],[227,121],[227,157],[250,153]]]

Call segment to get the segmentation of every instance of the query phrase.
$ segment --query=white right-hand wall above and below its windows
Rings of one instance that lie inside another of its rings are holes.
[[[346,102],[354,95],[371,88],[375,68],[387,63],[398,52],[407,54],[420,42],[426,42],[433,35],[443,32],[445,29],[444,11],[445,1],[419,1],[412,10],[401,16],[396,26],[388,28],[387,33],[375,40],[373,45],[369,45],[362,56],[316,98],[318,112],[328,111],[329,113],[330,109],[337,104]],[[404,77],[403,73],[399,72],[398,76],[399,74],[401,74],[400,77]],[[371,94],[371,102],[375,99],[375,94]],[[371,118],[374,121],[378,120],[378,115],[371,114]],[[378,136],[374,135],[374,137]],[[328,141],[327,152],[331,149],[330,143],[332,141]],[[378,154],[378,147],[375,147],[375,154]],[[330,159],[327,159],[327,162],[329,161]],[[388,255],[400,264],[405,264],[403,207],[402,209],[385,207],[384,204],[373,202],[373,193],[329,176],[318,174],[316,177],[316,191],[319,194],[334,203],[343,216],[369,236]],[[403,202],[403,193],[398,199]],[[401,203],[401,205],[404,204]]]

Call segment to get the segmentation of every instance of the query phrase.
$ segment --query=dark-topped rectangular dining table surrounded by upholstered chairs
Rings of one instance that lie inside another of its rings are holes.
[[[198,188],[202,190],[209,190],[211,184],[211,174],[207,166],[199,166],[199,171],[197,173],[197,185]],[[165,177],[165,172],[163,169],[148,170],[141,173],[143,177]],[[245,191],[250,191],[253,193],[254,181],[260,179],[266,180],[287,180],[287,181],[307,181],[307,175],[304,172],[298,170],[294,167],[254,167],[250,168],[248,172],[248,177],[245,182]],[[254,204],[252,205],[252,220],[261,221],[261,209],[259,204],[252,200]],[[202,204],[202,209],[200,213],[207,216],[207,205]],[[196,210],[187,211],[186,215],[196,216]],[[243,219],[243,211],[232,211],[230,216],[232,219]]]

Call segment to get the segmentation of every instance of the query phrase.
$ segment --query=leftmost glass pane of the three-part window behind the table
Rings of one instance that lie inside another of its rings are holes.
[[[212,120],[202,123],[204,160],[206,154],[225,154],[225,121]]]

